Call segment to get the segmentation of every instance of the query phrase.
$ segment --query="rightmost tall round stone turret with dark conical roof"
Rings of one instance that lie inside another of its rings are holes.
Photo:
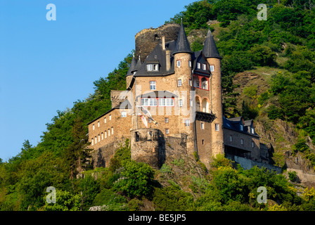
[[[222,107],[222,88],[221,88],[221,56],[214,42],[212,32],[209,30],[205,44],[203,46],[203,54],[210,64],[211,91],[210,101],[211,110],[215,115],[212,122],[212,155],[219,153],[224,154],[224,136],[223,136],[223,107]]]

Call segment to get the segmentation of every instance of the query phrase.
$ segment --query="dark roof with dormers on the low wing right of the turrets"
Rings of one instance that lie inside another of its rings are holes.
[[[240,125],[243,125],[243,131],[240,129]],[[223,126],[226,129],[231,129],[233,131],[238,131],[243,134],[259,137],[259,135],[256,132],[255,134],[250,133],[250,128],[254,127],[254,122],[252,120],[246,120],[244,122],[243,117],[235,117],[230,119],[224,117]]]

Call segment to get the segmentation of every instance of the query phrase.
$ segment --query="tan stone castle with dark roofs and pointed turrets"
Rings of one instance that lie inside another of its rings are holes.
[[[111,91],[112,109],[89,123],[94,167],[108,167],[130,139],[131,159],[159,168],[172,154],[268,163],[252,120],[227,119],[222,109],[221,56],[209,30],[202,51],[191,51],[184,25],[136,34],[126,91]]]

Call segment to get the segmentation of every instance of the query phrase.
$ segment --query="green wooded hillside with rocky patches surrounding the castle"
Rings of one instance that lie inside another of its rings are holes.
[[[128,143],[110,168],[86,165],[86,124],[110,109],[110,90],[125,89],[130,53],[94,82],[94,94],[57,112],[41,143],[25,141],[20,154],[0,160],[0,210],[315,210],[311,182],[298,183],[288,169],[314,173],[315,3],[268,1],[266,21],[257,20],[258,4],[196,1],[165,23],[183,18],[193,51],[203,48],[210,25],[223,57],[224,113],[255,120],[283,174],[244,171],[220,157],[207,171],[188,155],[154,170],[130,160]],[[57,189],[56,205],[45,203],[49,186]],[[266,205],[256,201],[259,186],[268,189]]]

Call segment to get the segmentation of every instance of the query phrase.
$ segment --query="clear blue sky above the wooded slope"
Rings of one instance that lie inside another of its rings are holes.
[[[94,93],[93,82],[194,0],[0,0],[0,158],[41,141],[57,110]],[[48,4],[56,21],[46,20]]]

